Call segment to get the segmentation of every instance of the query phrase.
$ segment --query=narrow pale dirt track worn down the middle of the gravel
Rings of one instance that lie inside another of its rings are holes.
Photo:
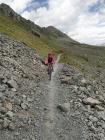
[[[60,56],[57,58],[57,63],[60,60]],[[59,66],[58,64],[55,64],[54,66],[54,72],[52,74],[52,79],[50,83],[48,84],[48,100],[47,100],[47,108],[48,111],[45,115],[45,127],[44,127],[44,136],[43,139],[45,140],[57,140],[57,136],[54,133],[54,127],[55,127],[55,94],[56,94],[56,85],[55,85],[55,75],[59,71]]]

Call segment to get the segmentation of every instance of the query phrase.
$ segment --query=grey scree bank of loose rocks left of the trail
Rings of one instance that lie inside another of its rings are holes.
[[[27,130],[30,134],[34,131],[34,136],[39,133],[37,123],[40,121],[40,96],[43,91],[41,82],[46,78],[45,67],[42,66],[35,50],[0,35],[0,138],[2,140],[17,139],[17,137],[23,139],[27,135]]]

